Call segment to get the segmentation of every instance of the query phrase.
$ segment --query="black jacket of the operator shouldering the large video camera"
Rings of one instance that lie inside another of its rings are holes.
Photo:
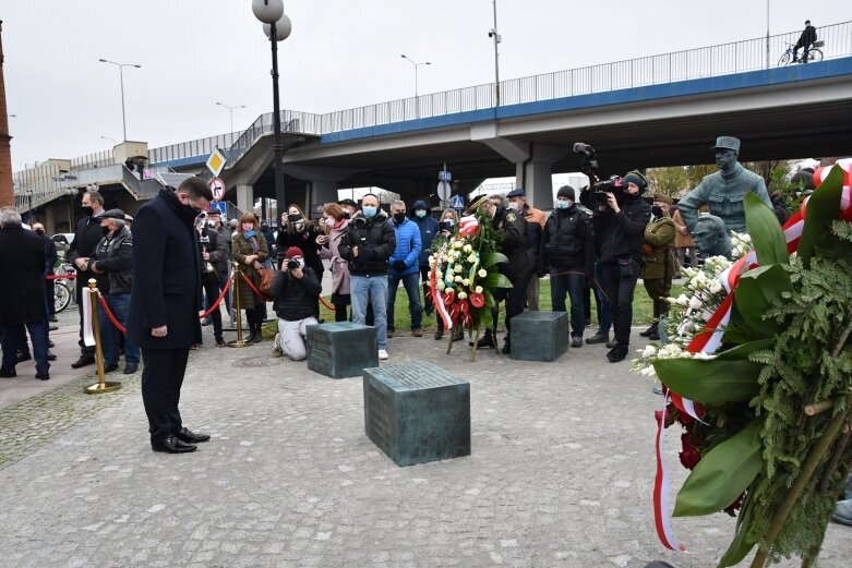
[[[619,258],[641,258],[645,228],[651,220],[651,206],[640,195],[625,194],[619,201],[621,212],[610,206],[596,210],[592,217],[596,249],[602,263],[616,263]]]

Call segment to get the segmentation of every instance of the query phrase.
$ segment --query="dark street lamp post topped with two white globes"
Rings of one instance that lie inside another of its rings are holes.
[[[263,22],[263,31],[272,46],[272,93],[273,93],[273,148],[275,150],[275,210],[280,215],[287,207],[284,194],[284,145],[281,144],[281,111],[278,101],[278,41],[287,39],[292,24],[284,13],[284,0],[252,0],[254,16]]]

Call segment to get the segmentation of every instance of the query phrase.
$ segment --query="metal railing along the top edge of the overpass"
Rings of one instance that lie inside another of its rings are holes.
[[[605,93],[688,81],[760,69],[778,64],[801,31],[758,37],[731,44],[674,51],[611,63],[588,65],[554,73],[512,78],[500,82],[501,106],[551,100],[555,98]],[[852,22],[817,28],[825,59],[852,56]],[[430,93],[376,105],[338,110],[325,114],[281,110],[281,130],[323,135],[355,129],[391,124],[407,120],[442,117],[458,112],[493,108],[496,104],[494,83]],[[272,132],[273,113],[261,114],[241,133],[229,135],[232,142],[212,136],[200,141],[172,144],[151,150],[151,161],[168,161],[209,154],[216,146],[228,148],[229,161],[236,161],[261,136]],[[233,140],[235,134],[237,135]]]

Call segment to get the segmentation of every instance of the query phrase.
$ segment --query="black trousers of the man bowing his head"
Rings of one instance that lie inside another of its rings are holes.
[[[178,432],[183,422],[178,403],[190,350],[142,348],[142,401],[148,415],[151,443],[159,444]]]

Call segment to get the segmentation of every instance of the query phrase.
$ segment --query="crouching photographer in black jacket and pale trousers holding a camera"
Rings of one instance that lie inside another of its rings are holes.
[[[302,250],[298,246],[287,249],[269,294],[275,299],[275,313],[278,314],[281,351],[293,361],[302,361],[308,354],[305,328],[319,323],[313,310],[321,291],[320,279],[313,268],[305,266]]]

